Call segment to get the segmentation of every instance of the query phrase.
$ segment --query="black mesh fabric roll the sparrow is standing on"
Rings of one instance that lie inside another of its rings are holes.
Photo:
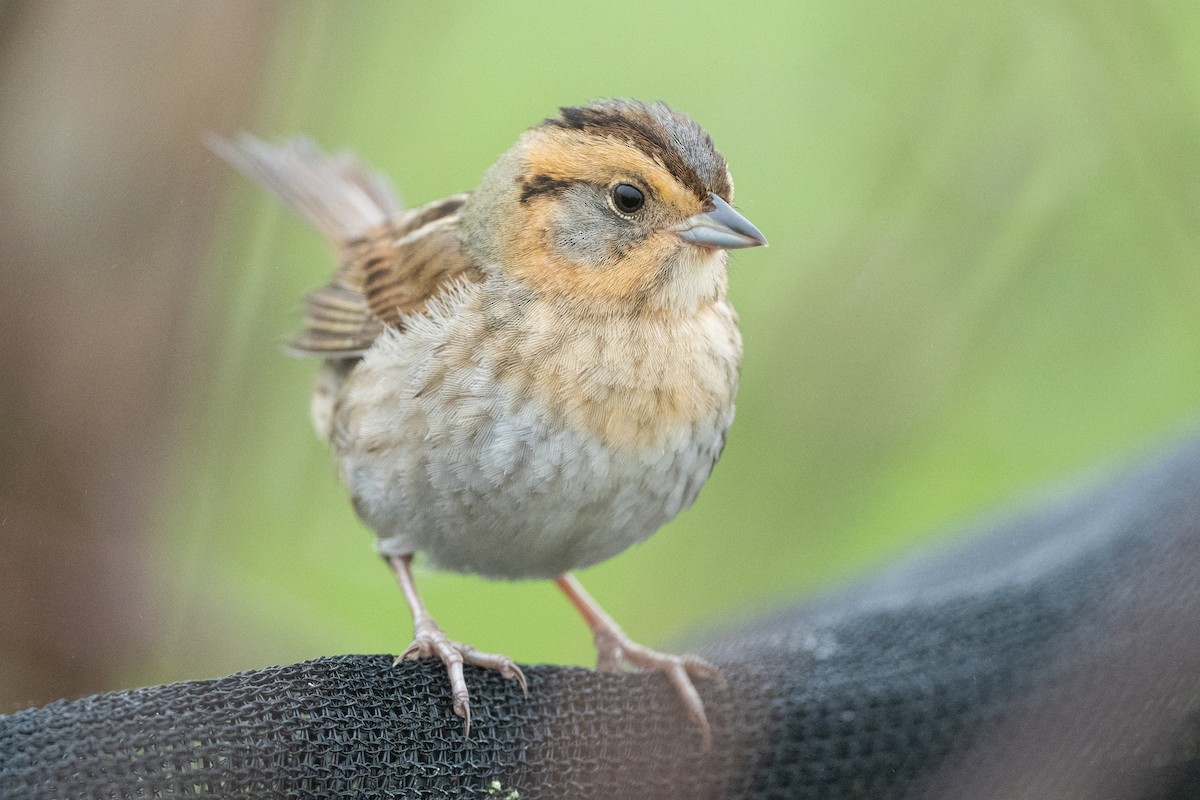
[[[1200,439],[955,541],[700,648],[707,751],[660,676],[468,669],[463,740],[338,656],[0,717],[0,795],[1200,798]]]

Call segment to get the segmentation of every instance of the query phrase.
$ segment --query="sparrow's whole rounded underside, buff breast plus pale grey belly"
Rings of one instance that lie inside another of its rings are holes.
[[[380,547],[546,577],[688,507],[733,416],[732,308],[581,321],[536,302],[468,305],[481,294],[464,300],[473,313],[385,335],[340,395],[331,445]]]

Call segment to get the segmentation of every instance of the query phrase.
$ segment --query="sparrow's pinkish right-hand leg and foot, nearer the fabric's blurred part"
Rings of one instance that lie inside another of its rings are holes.
[[[704,703],[700,699],[700,693],[691,679],[712,678],[724,682],[716,667],[696,656],[673,656],[650,650],[631,640],[570,572],[558,576],[554,583],[592,628],[592,636],[596,643],[596,669],[617,672],[623,662],[628,662],[638,669],[664,673],[679,693],[679,698],[688,710],[688,716],[700,728],[704,744],[710,744],[713,733],[708,727],[708,717],[704,716]]]

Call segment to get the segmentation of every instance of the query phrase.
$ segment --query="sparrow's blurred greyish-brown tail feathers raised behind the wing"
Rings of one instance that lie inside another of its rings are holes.
[[[367,170],[352,154],[323,154],[310,139],[276,146],[242,133],[234,140],[210,137],[208,144],[334,243],[361,236],[403,207],[385,178]]]

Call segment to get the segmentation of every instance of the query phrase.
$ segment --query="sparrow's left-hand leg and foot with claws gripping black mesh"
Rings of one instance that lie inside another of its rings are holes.
[[[467,692],[467,681],[462,674],[463,663],[494,669],[505,678],[515,679],[521,684],[521,691],[528,693],[524,673],[508,656],[494,652],[480,652],[469,644],[455,642],[446,638],[438,624],[433,621],[430,613],[425,610],[421,596],[416,594],[416,583],[413,581],[413,557],[388,555],[388,565],[396,576],[396,582],[404,593],[408,602],[408,610],[413,613],[413,643],[403,652],[396,656],[392,666],[401,661],[416,661],[418,658],[438,657],[446,667],[450,676],[450,692],[454,694],[454,712],[464,721],[463,735],[470,735],[470,696]]]

